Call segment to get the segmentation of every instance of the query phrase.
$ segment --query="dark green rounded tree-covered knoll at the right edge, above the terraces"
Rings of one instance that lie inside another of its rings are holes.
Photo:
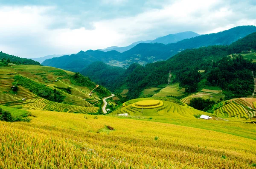
[[[225,99],[251,95],[254,90],[253,73],[256,63],[241,55],[224,57],[213,65],[207,75],[209,85],[224,89]]]

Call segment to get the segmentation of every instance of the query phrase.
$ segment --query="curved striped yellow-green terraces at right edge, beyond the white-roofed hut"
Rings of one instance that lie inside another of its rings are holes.
[[[250,119],[256,117],[256,110],[244,101],[245,98],[223,101],[222,106],[214,110],[214,114],[222,118]]]

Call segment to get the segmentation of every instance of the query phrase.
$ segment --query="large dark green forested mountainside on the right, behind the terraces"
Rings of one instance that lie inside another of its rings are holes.
[[[128,86],[128,99],[136,98],[146,87],[166,84],[171,71],[175,77],[173,82],[180,82],[182,87],[186,87],[187,93],[210,85],[223,88],[226,99],[246,97],[253,93],[251,71],[256,71],[256,63],[243,59],[241,55],[227,56],[256,50],[255,39],[256,33],[253,33],[229,46],[187,49],[167,61],[147,64],[145,67],[133,64],[110,89],[114,91],[123,85]],[[198,70],[205,70],[205,73],[198,73]]]

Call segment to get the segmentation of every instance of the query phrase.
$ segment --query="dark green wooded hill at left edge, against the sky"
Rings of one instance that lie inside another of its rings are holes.
[[[17,65],[40,65],[39,62],[36,62],[32,59],[20,58],[17,56],[5,54],[2,51],[0,52],[0,66],[7,66],[10,63]]]

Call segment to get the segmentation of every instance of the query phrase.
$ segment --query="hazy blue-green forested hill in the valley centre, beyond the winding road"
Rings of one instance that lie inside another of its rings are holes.
[[[96,84],[103,85],[107,88],[111,88],[117,78],[119,78],[125,69],[110,66],[103,62],[93,62],[87,68],[81,71],[84,76],[90,77],[90,79]]]

